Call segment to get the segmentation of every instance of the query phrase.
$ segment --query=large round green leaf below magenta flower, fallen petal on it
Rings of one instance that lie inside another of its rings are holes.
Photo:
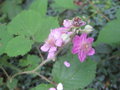
[[[65,90],[76,90],[87,86],[95,77],[96,63],[90,59],[81,63],[75,55],[65,55],[54,65],[52,75],[56,83],[62,83]],[[69,68],[64,61],[70,62]]]

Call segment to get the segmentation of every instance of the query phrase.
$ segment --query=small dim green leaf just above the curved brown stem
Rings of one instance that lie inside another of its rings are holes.
[[[20,60],[20,66],[26,67],[24,70],[33,70],[39,65],[41,59],[35,55],[28,55],[26,60]]]

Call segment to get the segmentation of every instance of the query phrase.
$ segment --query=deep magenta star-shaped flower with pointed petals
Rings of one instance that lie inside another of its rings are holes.
[[[78,58],[83,62],[87,56],[95,54],[94,48],[92,48],[93,38],[87,38],[87,34],[83,33],[81,36],[76,35],[73,38],[72,53],[78,54]]]

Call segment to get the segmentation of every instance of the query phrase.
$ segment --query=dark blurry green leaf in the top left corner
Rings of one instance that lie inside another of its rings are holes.
[[[8,18],[13,19],[19,12],[22,11],[22,7],[19,5],[22,0],[6,0],[2,4],[1,11],[8,16]]]

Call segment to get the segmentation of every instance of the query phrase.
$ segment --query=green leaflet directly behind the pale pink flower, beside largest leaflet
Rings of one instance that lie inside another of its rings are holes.
[[[55,17],[46,17],[42,18],[40,22],[40,29],[35,33],[35,40],[38,42],[43,42],[50,33],[51,29],[59,27],[57,18]]]

